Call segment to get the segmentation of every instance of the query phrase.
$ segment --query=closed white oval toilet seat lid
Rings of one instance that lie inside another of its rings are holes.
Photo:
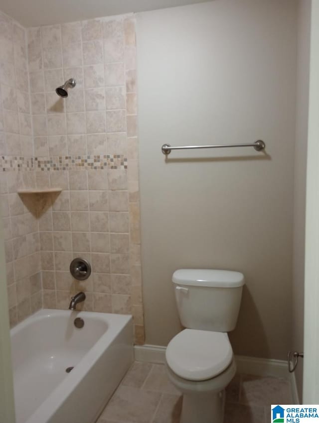
[[[179,377],[200,381],[222,373],[233,351],[227,333],[184,329],[167,345],[166,362]]]

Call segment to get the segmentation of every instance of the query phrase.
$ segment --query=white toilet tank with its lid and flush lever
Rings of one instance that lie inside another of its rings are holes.
[[[244,275],[214,269],[179,269],[172,281],[181,324],[189,329],[229,332],[236,326]]]

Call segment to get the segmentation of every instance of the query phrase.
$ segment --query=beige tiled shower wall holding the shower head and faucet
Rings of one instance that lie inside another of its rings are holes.
[[[32,174],[24,186],[62,189],[21,196],[37,217],[43,307],[65,309],[83,290],[79,308],[132,313],[143,343],[134,17],[30,28],[27,38],[34,160],[19,174]],[[69,78],[77,85],[59,99]],[[83,283],[68,271],[76,256],[92,264]]]

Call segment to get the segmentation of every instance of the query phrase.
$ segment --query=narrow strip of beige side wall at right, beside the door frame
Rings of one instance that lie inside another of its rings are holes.
[[[293,330],[291,349],[304,350],[305,209],[308,139],[311,0],[298,1],[298,61],[294,188]],[[296,369],[299,398],[303,391],[303,360]]]

